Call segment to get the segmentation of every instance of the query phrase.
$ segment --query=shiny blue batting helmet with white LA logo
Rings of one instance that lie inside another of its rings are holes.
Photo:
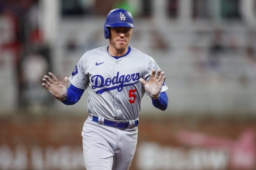
[[[130,27],[133,26],[133,16],[125,9],[113,9],[111,10],[105,20],[104,24],[104,36],[106,39],[110,37],[109,27]]]

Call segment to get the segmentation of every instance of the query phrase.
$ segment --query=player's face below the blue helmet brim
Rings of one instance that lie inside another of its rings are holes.
[[[113,27],[111,30],[110,46],[117,51],[128,49],[128,44],[132,36],[132,28],[129,27]]]

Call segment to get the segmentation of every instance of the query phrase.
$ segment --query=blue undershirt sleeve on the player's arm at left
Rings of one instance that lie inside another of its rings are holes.
[[[83,95],[85,89],[79,89],[70,84],[67,89],[67,98],[66,100],[62,101],[65,105],[74,105],[78,102],[78,100]]]

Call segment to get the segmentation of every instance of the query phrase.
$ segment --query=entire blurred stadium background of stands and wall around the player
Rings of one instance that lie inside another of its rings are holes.
[[[114,8],[169,87],[164,112],[142,99],[131,170],[255,170],[256,0],[0,0],[0,170],[85,170],[87,93],[65,106],[41,79],[106,45]]]

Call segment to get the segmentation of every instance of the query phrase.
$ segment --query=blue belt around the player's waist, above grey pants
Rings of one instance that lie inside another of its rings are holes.
[[[99,123],[99,117],[93,116],[92,121]],[[127,128],[133,128],[134,126],[138,126],[139,121],[118,121],[118,120],[108,120],[104,119],[104,125],[111,126],[117,129],[127,129]]]

